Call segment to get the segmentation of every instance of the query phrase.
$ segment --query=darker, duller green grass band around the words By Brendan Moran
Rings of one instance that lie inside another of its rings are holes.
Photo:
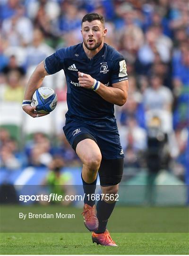
[[[69,213],[74,219],[19,219],[19,212]],[[61,205],[1,205],[0,230],[2,233],[85,233],[82,209]],[[187,207],[120,207],[116,206],[108,222],[112,233],[187,233]]]

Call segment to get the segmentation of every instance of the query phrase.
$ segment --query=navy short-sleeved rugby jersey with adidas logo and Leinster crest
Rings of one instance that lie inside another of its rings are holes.
[[[81,43],[57,50],[45,59],[44,66],[49,74],[64,70],[68,87],[66,123],[75,120],[95,127],[113,129],[117,126],[114,105],[95,91],[80,87],[77,72],[90,74],[106,86],[127,80],[125,60],[118,51],[104,43],[103,48],[89,59]]]

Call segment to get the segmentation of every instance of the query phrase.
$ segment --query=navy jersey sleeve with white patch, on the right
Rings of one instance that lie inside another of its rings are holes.
[[[114,62],[111,84],[128,80],[127,66],[124,59],[119,59]]]

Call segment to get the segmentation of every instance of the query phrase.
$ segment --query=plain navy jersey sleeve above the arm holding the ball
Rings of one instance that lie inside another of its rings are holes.
[[[62,50],[63,49],[56,51],[44,60],[44,68],[48,74],[57,73],[64,68],[64,55]]]

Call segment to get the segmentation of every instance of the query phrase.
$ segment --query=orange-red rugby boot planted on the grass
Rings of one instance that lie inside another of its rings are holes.
[[[93,243],[97,243],[97,245],[102,246],[117,246],[116,243],[112,240],[108,229],[105,230],[104,233],[96,234],[92,233],[92,241]]]

